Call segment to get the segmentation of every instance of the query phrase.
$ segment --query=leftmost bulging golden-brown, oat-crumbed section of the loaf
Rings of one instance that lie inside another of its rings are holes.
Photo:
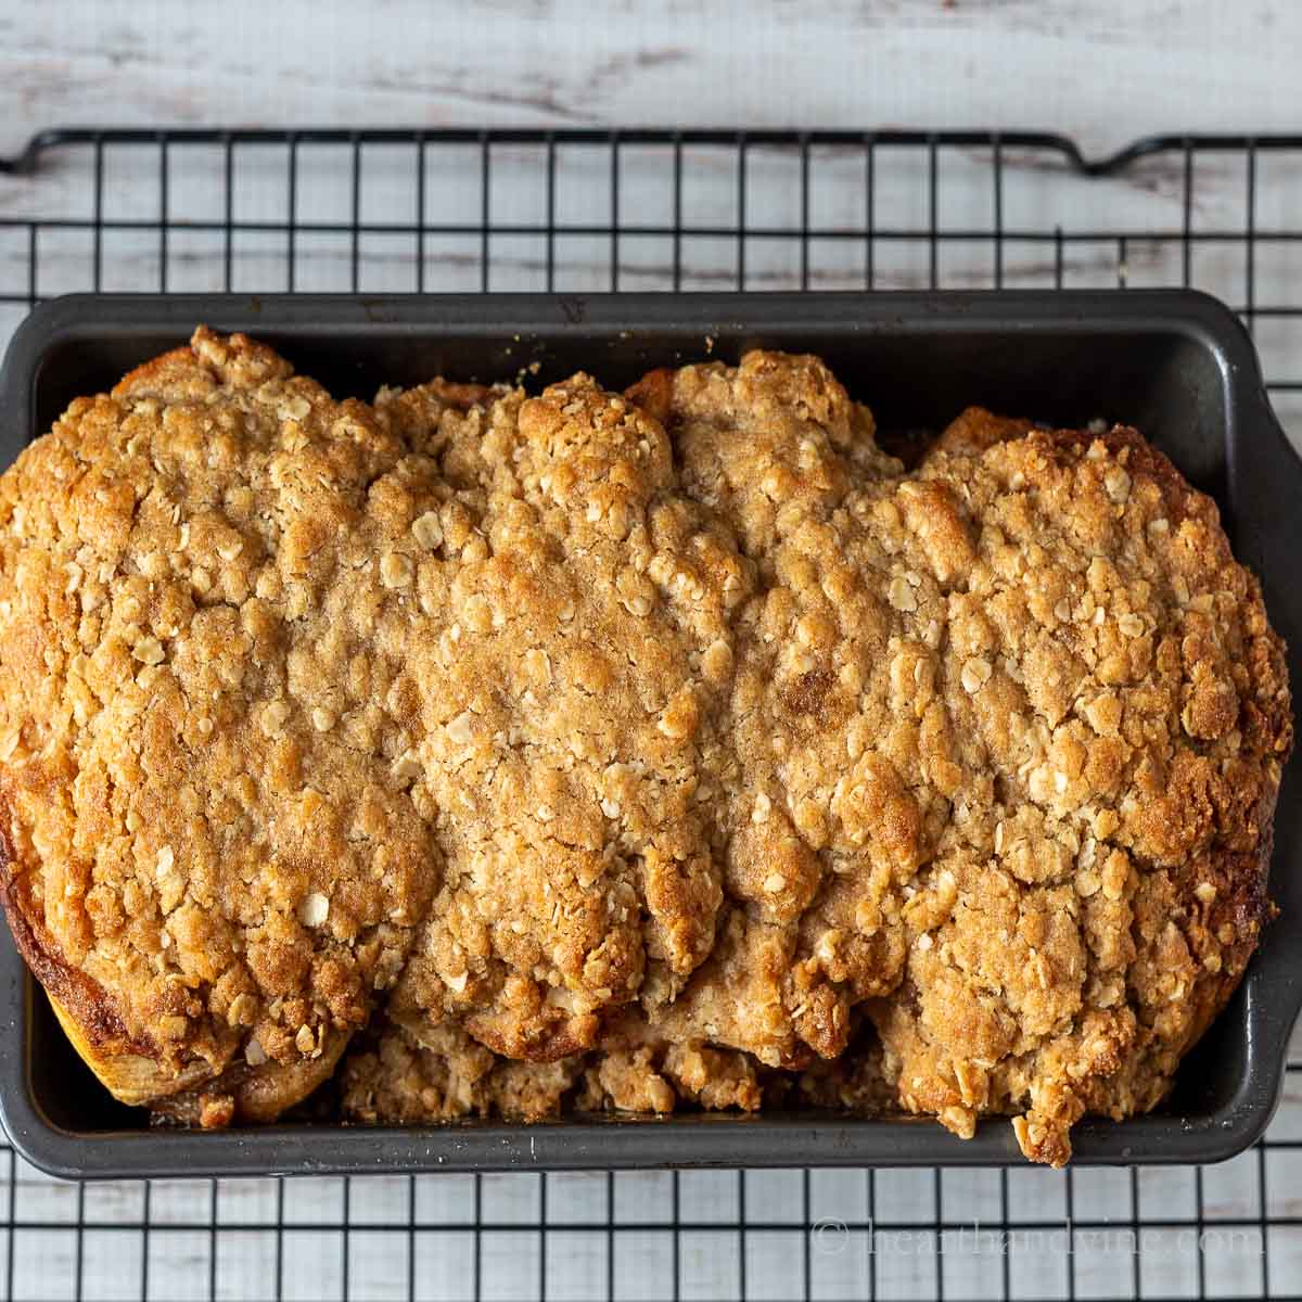
[[[328,603],[405,454],[370,408],[199,331],[0,480],[8,907],[69,1013],[152,1057],[160,1094],[237,1053],[322,1057],[427,905],[397,723],[333,719],[395,677],[357,626],[392,604],[378,577],[352,625]],[[366,684],[315,673],[323,647]]]

